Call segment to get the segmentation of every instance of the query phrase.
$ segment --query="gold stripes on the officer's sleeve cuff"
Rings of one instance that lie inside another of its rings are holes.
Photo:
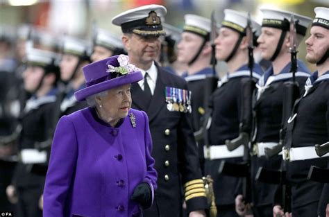
[[[191,180],[184,184],[185,200],[197,197],[205,197],[205,186],[203,180]]]

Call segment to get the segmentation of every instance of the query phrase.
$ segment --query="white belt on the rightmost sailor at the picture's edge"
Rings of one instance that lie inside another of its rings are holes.
[[[329,153],[322,157],[328,157]],[[294,162],[297,160],[319,158],[315,152],[314,146],[299,147],[299,148],[282,148],[282,158],[285,161]]]

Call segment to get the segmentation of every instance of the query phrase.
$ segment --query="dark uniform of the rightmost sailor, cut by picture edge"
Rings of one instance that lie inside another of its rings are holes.
[[[329,71],[319,78],[317,72],[313,73],[305,85],[305,94],[296,102],[287,126],[285,146],[296,148],[296,150],[310,147],[310,151],[314,151],[315,144],[328,141]],[[303,151],[303,154],[307,154],[305,152],[307,150]],[[291,152],[289,157],[293,159]],[[317,216],[323,184],[307,180],[307,174],[310,166],[326,168],[327,162],[327,157],[319,158],[316,155],[310,159],[305,157],[305,159],[296,159],[292,162],[286,161],[287,178],[292,185],[292,214],[294,216]]]

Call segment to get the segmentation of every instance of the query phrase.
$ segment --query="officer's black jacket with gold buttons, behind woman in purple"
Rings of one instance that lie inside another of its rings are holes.
[[[146,217],[179,216],[182,209],[182,184],[201,179],[199,155],[194,140],[190,114],[170,112],[165,101],[165,87],[187,89],[183,78],[158,67],[158,78],[149,107],[144,101],[144,92],[138,83],[131,87],[132,107],[144,110],[149,116],[149,125],[153,140],[152,156],[158,172],[158,189],[155,202],[144,211]],[[204,196],[187,200],[187,210],[205,209]]]

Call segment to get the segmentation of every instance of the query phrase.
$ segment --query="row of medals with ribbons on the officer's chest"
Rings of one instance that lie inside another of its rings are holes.
[[[165,96],[167,110],[171,112],[192,112],[191,92],[187,89],[178,89],[175,87],[166,87]]]

